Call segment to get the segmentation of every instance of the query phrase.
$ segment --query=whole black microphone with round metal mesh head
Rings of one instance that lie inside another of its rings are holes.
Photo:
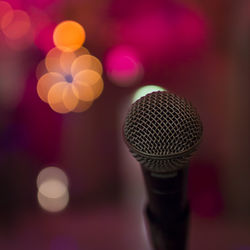
[[[141,97],[125,118],[123,138],[142,167],[149,200],[146,216],[155,250],[186,249],[188,165],[202,130],[191,103],[168,91]]]

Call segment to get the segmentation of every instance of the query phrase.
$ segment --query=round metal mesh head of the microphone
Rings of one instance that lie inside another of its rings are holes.
[[[123,125],[130,152],[143,167],[155,172],[187,166],[201,135],[196,109],[167,91],[150,93],[133,103]]]

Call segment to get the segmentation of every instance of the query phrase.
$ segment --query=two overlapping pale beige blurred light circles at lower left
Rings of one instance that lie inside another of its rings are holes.
[[[39,205],[48,212],[59,212],[69,202],[68,178],[59,168],[43,169],[37,177],[37,199]]]

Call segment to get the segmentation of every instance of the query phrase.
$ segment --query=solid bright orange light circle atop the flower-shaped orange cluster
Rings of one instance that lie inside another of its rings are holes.
[[[63,21],[54,30],[53,40],[57,48],[72,52],[79,49],[85,41],[83,27],[75,21]]]

